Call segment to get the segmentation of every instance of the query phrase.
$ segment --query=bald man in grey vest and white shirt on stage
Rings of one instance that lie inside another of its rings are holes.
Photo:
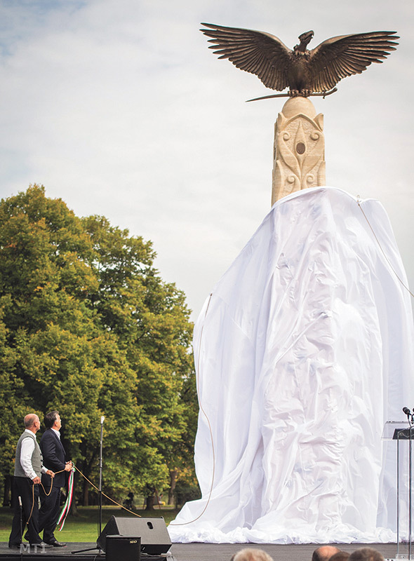
[[[41,465],[41,451],[36,440],[40,421],[35,413],[26,415],[24,419],[25,431],[18,440],[15,454],[15,468],[13,478],[13,507],[14,516],[11,534],[8,539],[9,548],[20,548],[22,543],[22,528],[20,527],[20,503],[22,501],[22,527],[27,528],[30,545],[41,546],[43,541],[39,536],[39,483],[41,473],[55,474]],[[29,523],[27,524],[27,521]]]

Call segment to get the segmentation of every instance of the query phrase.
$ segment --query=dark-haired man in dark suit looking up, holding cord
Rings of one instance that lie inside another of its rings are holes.
[[[46,431],[44,431],[41,437],[40,448],[43,454],[44,466],[55,472],[55,477],[53,478],[52,485],[52,478],[49,475],[44,474],[41,476],[41,482],[46,492],[40,487],[39,534],[43,529],[44,543],[55,547],[65,547],[66,543],[58,541],[55,538],[54,532],[60,511],[60,487],[65,487],[66,485],[66,472],[72,469],[72,462],[66,461],[65,448],[62,442],[60,442],[59,431],[62,422],[60,421],[59,412],[51,411],[46,413],[44,422]],[[50,489],[51,493],[46,494],[49,493]]]

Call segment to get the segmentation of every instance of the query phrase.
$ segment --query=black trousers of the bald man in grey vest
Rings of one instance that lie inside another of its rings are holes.
[[[33,485],[29,478],[13,478],[13,509],[14,516],[11,524],[11,534],[8,539],[9,546],[18,546],[22,543],[22,530],[20,527],[20,504],[22,498],[22,529],[29,537],[29,543],[41,543],[39,536],[39,485]],[[32,513],[32,514],[30,514]],[[27,525],[27,520],[29,524]]]

